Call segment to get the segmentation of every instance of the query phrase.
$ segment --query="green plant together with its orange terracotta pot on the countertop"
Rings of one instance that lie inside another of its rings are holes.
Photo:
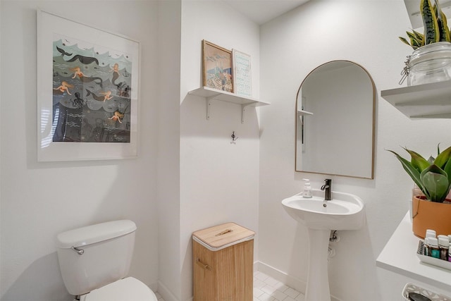
[[[426,229],[437,234],[451,234],[451,200],[447,195],[451,189],[451,147],[440,152],[437,157],[426,160],[411,149],[404,148],[411,160],[395,154],[407,174],[414,180],[424,195],[412,196],[412,230],[416,236],[424,238]]]

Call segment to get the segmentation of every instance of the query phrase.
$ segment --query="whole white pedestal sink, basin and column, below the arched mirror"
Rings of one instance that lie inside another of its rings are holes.
[[[327,257],[330,231],[357,230],[365,224],[364,203],[356,195],[332,192],[324,201],[324,192],[311,190],[313,197],[302,193],[283,199],[285,211],[307,226],[309,231],[309,271],[305,301],[330,301]]]

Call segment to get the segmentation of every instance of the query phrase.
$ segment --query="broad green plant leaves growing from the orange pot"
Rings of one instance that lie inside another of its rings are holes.
[[[451,189],[451,147],[440,152],[438,146],[437,157],[434,159],[431,156],[428,160],[410,149],[404,149],[410,154],[410,161],[390,149],[388,151],[395,154],[404,170],[424,193],[426,199],[432,202],[445,202]]]

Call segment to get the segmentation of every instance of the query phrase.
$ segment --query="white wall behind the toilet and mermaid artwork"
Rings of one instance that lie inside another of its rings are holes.
[[[72,300],[58,268],[56,234],[112,219],[137,223],[130,274],[155,286],[156,3],[2,0],[0,4],[1,300]],[[38,6],[141,42],[138,159],[37,162]]]

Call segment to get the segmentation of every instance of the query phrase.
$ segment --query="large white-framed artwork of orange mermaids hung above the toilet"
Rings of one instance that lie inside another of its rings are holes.
[[[140,43],[37,11],[37,160],[137,157]]]

